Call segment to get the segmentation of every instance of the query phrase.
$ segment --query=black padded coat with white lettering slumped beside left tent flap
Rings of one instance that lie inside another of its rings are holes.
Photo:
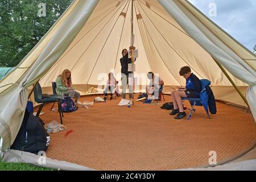
[[[38,154],[39,151],[47,150],[49,140],[49,134],[42,123],[26,109],[22,126],[11,149]]]

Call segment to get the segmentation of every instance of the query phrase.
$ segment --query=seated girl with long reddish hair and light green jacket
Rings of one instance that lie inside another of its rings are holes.
[[[56,80],[56,92],[64,97],[68,96],[73,99],[75,97],[75,104],[81,105],[79,102],[80,93],[74,90],[72,80],[71,80],[71,71],[65,69],[63,73],[57,77]]]

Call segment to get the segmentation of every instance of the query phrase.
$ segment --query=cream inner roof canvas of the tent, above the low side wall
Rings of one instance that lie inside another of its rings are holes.
[[[212,57],[167,13],[158,1],[134,1],[136,73],[159,73],[166,85],[184,85],[179,69],[189,65],[199,78],[213,85],[231,85]],[[64,69],[74,84],[100,84],[102,73],[120,73],[123,48],[130,46],[131,1],[100,1],[88,22],[60,59],[42,78],[50,86]],[[247,84],[233,77],[239,86]],[[142,81],[142,80],[141,80]]]

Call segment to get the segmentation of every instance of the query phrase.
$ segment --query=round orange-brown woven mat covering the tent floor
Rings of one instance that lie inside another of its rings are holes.
[[[170,102],[170,96],[165,98]],[[217,103],[212,119],[196,107],[190,121],[176,121],[160,105],[136,102],[127,108],[117,105],[120,100],[64,113],[68,129],[51,134],[47,157],[98,170],[190,168],[208,164],[210,151],[216,151],[217,162],[232,158],[251,147],[256,136],[253,117],[237,107]],[[46,123],[59,121],[59,113],[49,111],[51,106],[43,109]]]

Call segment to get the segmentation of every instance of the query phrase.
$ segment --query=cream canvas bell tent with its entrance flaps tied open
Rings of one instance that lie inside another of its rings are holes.
[[[217,99],[245,105],[233,85],[246,92],[256,118],[256,56],[252,52],[185,0],[134,0],[134,13],[138,75],[153,71],[160,73],[165,88],[179,86],[184,85],[179,69],[189,65],[199,78],[212,81]],[[76,0],[69,6],[0,82],[2,151],[14,142],[28,88],[35,82],[40,80],[47,90],[64,69],[71,69],[73,84],[88,94],[100,84],[101,73],[120,73],[121,51],[130,46],[130,17],[131,0]]]

